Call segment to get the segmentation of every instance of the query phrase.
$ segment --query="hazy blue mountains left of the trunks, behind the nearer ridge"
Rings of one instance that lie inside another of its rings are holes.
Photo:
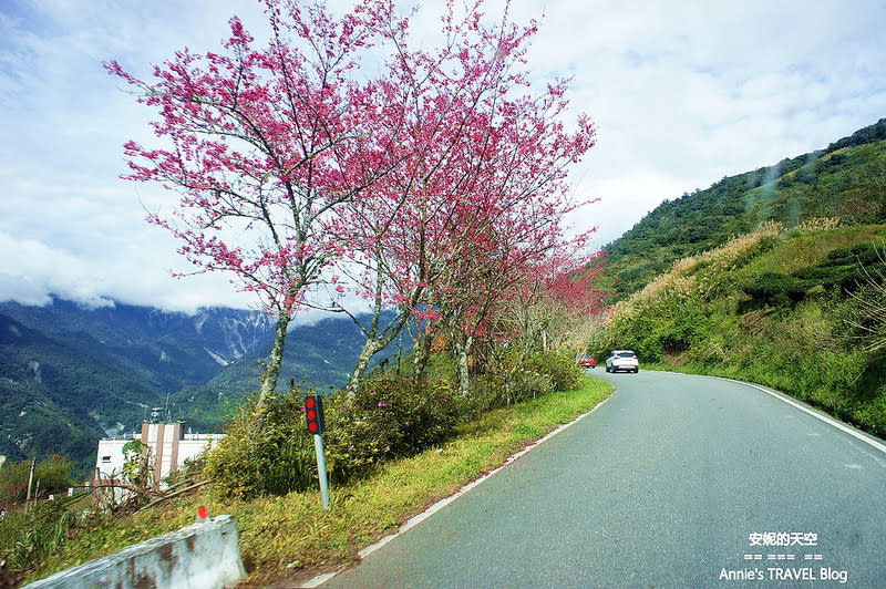
[[[135,430],[167,395],[205,383],[272,332],[270,318],[234,309],[0,303],[0,454],[59,453],[86,468],[100,437]]]

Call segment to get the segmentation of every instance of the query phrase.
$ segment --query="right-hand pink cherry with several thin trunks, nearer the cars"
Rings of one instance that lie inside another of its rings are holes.
[[[459,17],[449,2],[446,43],[435,51],[410,50],[402,29],[389,38],[396,48],[389,84],[398,90],[388,95],[403,99],[406,153],[373,186],[375,198],[348,207],[360,219],[350,241],[368,246],[358,290],[375,302],[352,385],[410,318],[425,327],[415,375],[435,326],[466,333],[453,340],[465,343],[456,356],[464,365],[496,299],[563,239],[564,216],[576,206],[566,174],[594,145],[593,125],[580,116],[576,131],[564,130],[565,81],[529,90],[523,58],[535,23],[518,27],[505,12],[486,24],[482,4]],[[399,309],[384,327],[382,303]]]

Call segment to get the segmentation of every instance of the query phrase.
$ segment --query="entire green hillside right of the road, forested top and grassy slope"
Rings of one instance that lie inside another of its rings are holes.
[[[632,348],[886,435],[886,118],[663,203],[607,261],[598,358]]]

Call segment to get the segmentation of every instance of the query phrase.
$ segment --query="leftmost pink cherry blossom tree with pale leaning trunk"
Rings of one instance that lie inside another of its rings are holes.
[[[361,197],[398,162],[398,130],[378,121],[388,96],[357,79],[378,31],[395,22],[392,2],[363,0],[332,18],[322,3],[267,0],[265,46],[236,17],[219,53],[187,49],[142,81],[106,69],[155,108],[159,147],[125,145],[137,182],[181,194],[173,214],[150,223],[172,231],[197,271],[226,271],[277,319],[259,405],[276,389],[287,327],[310,287],[343,255],[334,210]]]

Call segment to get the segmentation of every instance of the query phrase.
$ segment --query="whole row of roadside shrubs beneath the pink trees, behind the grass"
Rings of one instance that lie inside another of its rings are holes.
[[[338,482],[359,476],[380,462],[415,455],[449,438],[463,417],[555,390],[577,388],[583,371],[570,352],[536,352],[513,370],[474,379],[462,397],[447,381],[412,381],[394,370],[375,372],[357,390],[324,397],[327,467]],[[227,436],[207,455],[205,475],[226,496],[284,495],[317,485],[313,441],[305,427],[303,395],[244,404],[227,425]]]

